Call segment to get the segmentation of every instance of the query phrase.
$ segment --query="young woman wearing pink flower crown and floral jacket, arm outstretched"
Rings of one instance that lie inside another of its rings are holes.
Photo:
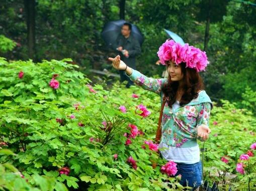
[[[161,120],[161,140],[158,148],[167,161],[177,163],[182,175],[180,183],[195,190],[201,185],[202,165],[197,138],[206,140],[212,102],[203,90],[199,75],[209,63],[205,52],[185,44],[167,40],[157,52],[161,64],[166,65],[168,79],[147,78],[128,67],[120,57],[109,58],[117,70],[124,70],[137,85],[153,91],[166,100]]]

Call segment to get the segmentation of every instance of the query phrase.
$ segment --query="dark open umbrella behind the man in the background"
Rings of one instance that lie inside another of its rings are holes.
[[[118,21],[111,21],[104,25],[104,28],[102,30],[102,38],[106,42],[108,46],[111,46],[117,39],[117,37],[121,34],[121,28],[126,23],[124,20],[118,20]],[[131,35],[137,39],[140,43],[140,45],[144,41],[144,37],[142,33],[140,32],[139,28],[133,24],[132,25],[132,31]]]

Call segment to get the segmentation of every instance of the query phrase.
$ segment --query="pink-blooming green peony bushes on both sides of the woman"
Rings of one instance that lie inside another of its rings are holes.
[[[15,153],[0,161],[37,189],[36,174],[52,181],[49,190],[183,190],[176,163],[162,160],[153,142],[159,97],[136,86],[93,85],[69,63],[0,59],[0,147]],[[210,139],[199,141],[210,183],[255,188],[255,122],[227,101],[214,107]]]

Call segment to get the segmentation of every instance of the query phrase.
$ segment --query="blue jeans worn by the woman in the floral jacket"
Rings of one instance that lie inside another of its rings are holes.
[[[201,185],[202,182],[202,163],[197,162],[194,164],[177,163],[178,172],[175,176],[181,174],[182,178],[180,184],[183,186],[193,187],[195,190]]]

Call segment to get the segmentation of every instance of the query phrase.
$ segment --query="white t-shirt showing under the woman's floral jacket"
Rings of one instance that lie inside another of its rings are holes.
[[[173,111],[180,107],[180,102],[176,101],[173,104]],[[199,145],[192,147],[176,147],[169,146],[162,141],[159,143],[158,148],[164,148],[160,150],[162,157],[167,160],[173,160],[174,162],[181,162],[186,164],[194,164],[200,161],[200,148]],[[166,149],[165,149],[166,148]]]

